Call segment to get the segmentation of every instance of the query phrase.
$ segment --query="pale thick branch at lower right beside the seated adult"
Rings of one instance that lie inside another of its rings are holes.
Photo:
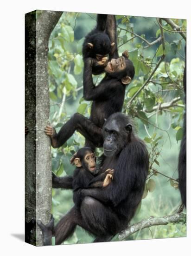
[[[118,238],[119,240],[125,240],[128,236],[136,233],[139,230],[150,228],[152,226],[167,225],[169,223],[185,222],[185,214],[183,212],[178,212],[172,215],[163,217],[153,217],[150,216],[148,219],[143,219],[138,223],[135,223],[128,227],[127,229],[121,231]]]

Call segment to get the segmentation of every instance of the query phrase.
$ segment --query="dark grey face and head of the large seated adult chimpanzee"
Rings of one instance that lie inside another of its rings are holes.
[[[131,132],[132,125],[129,123],[126,125],[115,119],[106,121],[103,127],[104,155],[117,155],[127,145]]]

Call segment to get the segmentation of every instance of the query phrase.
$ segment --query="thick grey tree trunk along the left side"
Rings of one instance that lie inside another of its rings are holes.
[[[62,12],[25,14],[25,241],[42,245],[36,220],[51,219],[51,142],[45,135],[50,99],[48,42]],[[32,221],[33,220],[33,221]]]

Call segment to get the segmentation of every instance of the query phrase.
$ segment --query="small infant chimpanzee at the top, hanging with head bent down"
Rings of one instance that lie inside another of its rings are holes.
[[[93,58],[92,66],[93,74],[101,74],[107,66],[107,55],[110,53],[111,47],[115,42],[111,42],[108,34],[106,34],[107,14],[97,14],[96,27],[87,34],[83,42],[82,54],[83,60]]]

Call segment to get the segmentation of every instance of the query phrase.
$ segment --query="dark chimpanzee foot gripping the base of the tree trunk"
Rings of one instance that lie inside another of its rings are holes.
[[[52,244],[52,236],[54,236],[54,217],[51,215],[51,220],[48,224],[44,225],[41,221],[37,221],[39,228],[43,233],[43,245]]]

